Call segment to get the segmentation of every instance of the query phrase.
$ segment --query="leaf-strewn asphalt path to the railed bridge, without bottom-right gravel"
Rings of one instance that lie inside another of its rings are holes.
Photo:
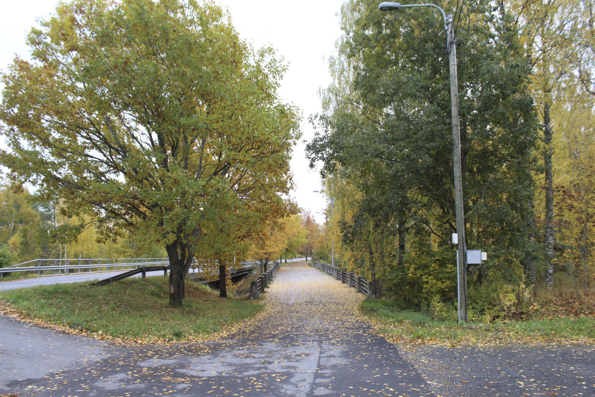
[[[2,336],[0,393],[436,396],[395,346],[369,333],[357,311],[364,296],[353,288],[306,264],[287,264],[264,295],[267,309],[256,321],[202,344],[125,348],[2,317],[0,329],[20,330],[28,353],[7,349]],[[30,361],[36,354],[45,357]]]

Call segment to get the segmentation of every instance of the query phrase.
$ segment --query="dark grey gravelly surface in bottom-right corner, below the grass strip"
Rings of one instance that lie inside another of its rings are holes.
[[[406,346],[402,352],[438,395],[595,396],[593,346]]]

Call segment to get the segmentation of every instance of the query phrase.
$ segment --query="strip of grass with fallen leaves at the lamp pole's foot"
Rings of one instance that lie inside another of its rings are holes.
[[[458,324],[439,321],[430,314],[400,311],[387,301],[367,298],[360,310],[372,320],[377,332],[391,342],[446,346],[595,343],[595,317],[552,317],[490,324]]]

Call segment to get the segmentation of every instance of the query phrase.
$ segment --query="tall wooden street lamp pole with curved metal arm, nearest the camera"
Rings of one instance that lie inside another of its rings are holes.
[[[436,4],[400,4],[383,2],[378,5],[381,11],[399,10],[402,7],[434,7],[440,10],[446,29],[446,45],[450,66],[450,103],[452,114],[452,166],[455,174],[455,218],[457,245],[457,286],[459,297],[459,323],[467,322],[467,277],[465,250],[465,215],[463,211],[463,182],[461,176],[461,134],[459,132],[459,92],[456,77],[456,41],[452,14],[445,14]],[[453,239],[454,241],[455,239]]]

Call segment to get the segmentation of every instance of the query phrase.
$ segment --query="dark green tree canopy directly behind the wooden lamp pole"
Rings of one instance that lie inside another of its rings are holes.
[[[531,65],[503,4],[440,5],[454,11],[458,36],[466,245],[491,258],[468,270],[472,282],[490,275],[522,279],[531,252],[537,145]],[[331,222],[340,228],[339,249],[357,251],[342,258],[362,273],[384,275],[384,285],[398,285],[399,296],[414,305],[433,296],[456,299],[441,15],[380,12],[377,2],[352,0],[343,6],[342,27],[327,108],[314,118],[318,134],[308,146],[311,161],[323,163],[337,205],[350,207],[337,208],[345,218]]]

